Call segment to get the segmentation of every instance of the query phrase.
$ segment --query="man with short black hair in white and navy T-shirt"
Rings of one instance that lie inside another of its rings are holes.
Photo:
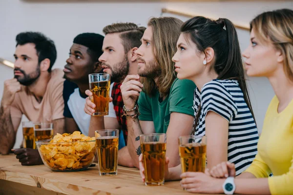
[[[103,54],[104,36],[95,33],[83,33],[76,36],[69,50],[69,58],[64,66],[64,117],[66,133],[81,131],[88,136],[90,116],[84,113],[85,90],[88,89],[88,75],[92,73],[103,73],[100,56]],[[112,79],[112,78],[111,78]],[[113,106],[109,107],[107,118],[114,118],[116,115]],[[110,120],[111,122],[111,120]],[[112,125],[113,126],[113,125]],[[111,123],[108,128],[113,128]]]

